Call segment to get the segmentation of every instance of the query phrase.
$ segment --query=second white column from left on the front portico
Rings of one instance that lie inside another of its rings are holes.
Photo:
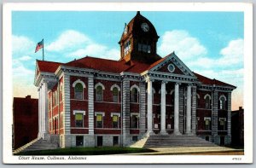
[[[161,135],[167,135],[166,132],[166,81],[161,84]]]

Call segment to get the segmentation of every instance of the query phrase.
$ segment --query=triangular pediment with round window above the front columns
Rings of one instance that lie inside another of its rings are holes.
[[[159,63],[149,69],[151,72],[165,72],[178,75],[192,76],[195,74],[174,53],[167,55]]]

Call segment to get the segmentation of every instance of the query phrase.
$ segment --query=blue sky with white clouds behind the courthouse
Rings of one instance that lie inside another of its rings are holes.
[[[42,50],[37,53],[34,50],[42,38],[46,61],[67,62],[85,55],[118,60],[119,38],[125,23],[135,14],[135,11],[13,12],[14,96],[37,97],[32,83],[35,60],[42,59]],[[232,103],[234,108],[242,106],[242,12],[141,11],[141,14],[153,23],[160,36],[160,56],[174,50],[192,71],[236,85]]]

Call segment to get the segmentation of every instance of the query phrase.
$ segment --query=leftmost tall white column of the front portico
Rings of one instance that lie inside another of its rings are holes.
[[[154,134],[152,130],[152,80],[148,78],[148,135]]]

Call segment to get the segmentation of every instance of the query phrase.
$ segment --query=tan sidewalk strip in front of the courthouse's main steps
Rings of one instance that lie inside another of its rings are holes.
[[[232,153],[243,154],[243,149],[226,147],[181,147],[181,148],[149,148],[156,152],[129,155],[166,155],[166,154],[207,154],[207,153]]]

